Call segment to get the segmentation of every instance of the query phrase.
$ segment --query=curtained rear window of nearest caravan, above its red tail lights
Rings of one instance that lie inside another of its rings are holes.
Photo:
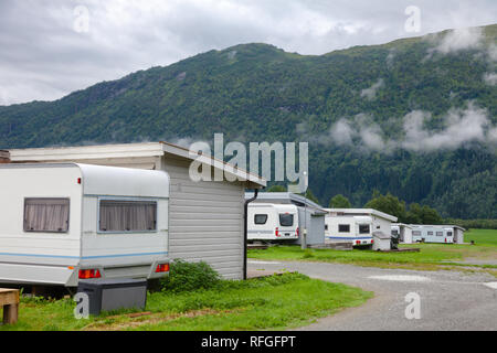
[[[98,229],[113,233],[157,231],[157,202],[102,200]]]

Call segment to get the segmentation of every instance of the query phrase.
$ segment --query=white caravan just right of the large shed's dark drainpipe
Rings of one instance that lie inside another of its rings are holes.
[[[296,240],[298,208],[292,204],[248,204],[248,240]]]

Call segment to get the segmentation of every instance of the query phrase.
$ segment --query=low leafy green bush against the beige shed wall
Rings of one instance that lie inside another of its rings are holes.
[[[169,276],[160,281],[161,290],[183,292],[211,289],[219,285],[221,278],[207,263],[171,263]]]

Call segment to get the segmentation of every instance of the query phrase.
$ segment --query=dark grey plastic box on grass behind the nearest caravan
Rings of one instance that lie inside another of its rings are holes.
[[[119,309],[145,309],[147,303],[146,279],[81,280],[77,292],[89,299],[89,314]]]

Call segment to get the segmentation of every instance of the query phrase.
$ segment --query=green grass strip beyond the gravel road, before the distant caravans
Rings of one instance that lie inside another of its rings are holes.
[[[497,231],[474,229],[466,235],[467,244],[415,244],[401,245],[402,248],[420,248],[420,253],[378,253],[353,249],[349,252],[332,249],[307,249],[299,246],[274,246],[265,250],[250,250],[248,257],[265,260],[305,260],[352,264],[360,266],[441,269],[457,266],[485,269],[497,276]],[[466,260],[478,260],[478,265]]]

